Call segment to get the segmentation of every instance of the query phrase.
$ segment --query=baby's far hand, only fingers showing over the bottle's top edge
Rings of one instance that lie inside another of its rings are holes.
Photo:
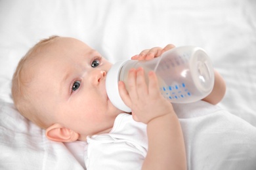
[[[149,60],[153,58],[157,58],[163,54],[163,52],[166,52],[167,50],[171,50],[172,48],[175,48],[173,44],[167,44],[165,48],[161,47],[154,47],[151,49],[146,49],[140,52],[139,55],[133,56],[131,59],[138,59],[138,60]]]

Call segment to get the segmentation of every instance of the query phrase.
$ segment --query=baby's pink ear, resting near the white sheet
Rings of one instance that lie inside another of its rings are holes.
[[[70,143],[77,141],[79,134],[60,124],[53,124],[45,131],[45,135],[51,141]]]

